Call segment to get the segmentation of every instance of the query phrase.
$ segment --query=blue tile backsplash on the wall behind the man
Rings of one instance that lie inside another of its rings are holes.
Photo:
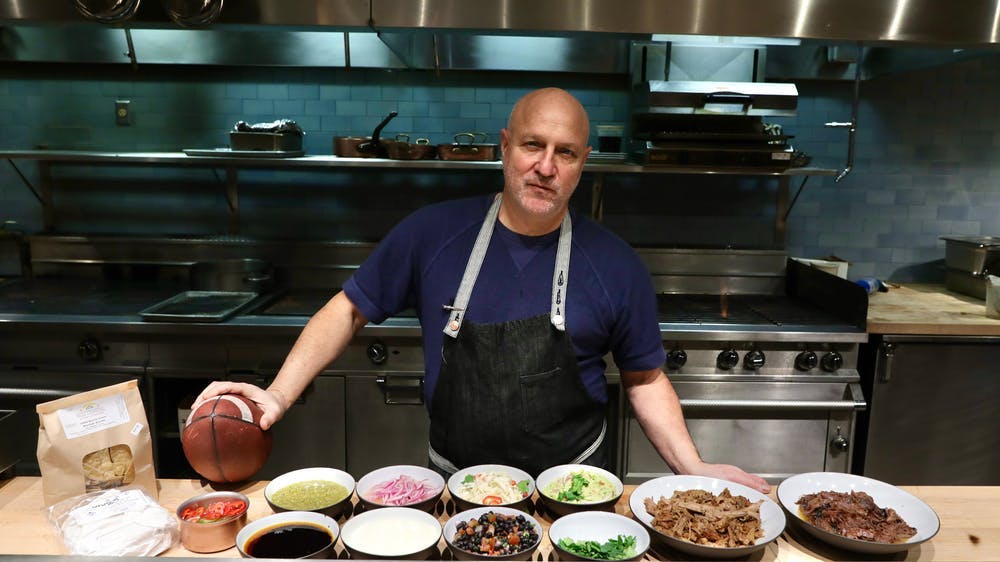
[[[624,122],[629,112],[623,76],[72,65],[6,65],[2,76],[6,150],[222,147],[236,121],[289,117],[307,131],[307,153],[330,154],[334,136],[370,135],[390,111],[399,115],[385,136],[448,143],[455,132],[483,131],[488,142],[499,142],[513,102],[545,85],[566,87],[584,103],[594,146],[597,124]],[[798,115],[777,122],[813,165],[843,167],[848,134],[824,124],[850,120],[853,85],[797,85]],[[116,99],[130,100],[131,126],[115,125]],[[851,278],[940,282],[941,236],[1000,235],[997,99],[995,56],[864,81],[854,169],[839,183],[805,183],[784,240],[774,239],[773,179],[606,177],[605,222],[637,246],[781,247],[796,256],[846,259]],[[41,208],[18,172],[37,189],[33,162],[4,164],[0,221],[38,232]],[[224,231],[219,177],[205,169],[56,168],[57,230]],[[500,186],[499,173],[260,170],[240,177],[242,218],[256,236],[377,239],[415,206]],[[575,202],[584,208],[589,182],[585,176]],[[792,179],[792,195],[800,182]],[[289,217],[308,226],[289,230]]]

